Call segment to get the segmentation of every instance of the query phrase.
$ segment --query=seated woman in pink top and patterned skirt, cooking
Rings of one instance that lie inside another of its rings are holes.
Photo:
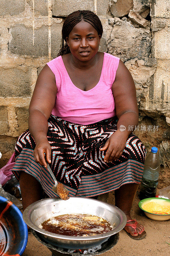
[[[144,227],[130,216],[146,151],[128,129],[138,124],[136,89],[119,58],[98,52],[102,33],[91,11],[65,19],[58,57],[38,76],[29,130],[17,140],[13,173],[24,209],[41,198],[41,186],[48,196],[56,196],[46,160],[70,196],[115,190],[115,205],[128,220],[124,229],[142,239]]]

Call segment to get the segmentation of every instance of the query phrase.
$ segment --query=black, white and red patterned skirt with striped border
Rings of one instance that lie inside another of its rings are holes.
[[[52,150],[49,165],[70,196],[97,196],[126,183],[140,183],[146,149],[136,135],[129,135],[122,156],[113,163],[105,163],[106,151],[99,150],[117,130],[117,121],[115,116],[81,125],[53,115],[48,119],[47,138]],[[27,130],[16,142],[12,172],[17,179],[20,171],[33,175],[48,196],[56,196],[48,169],[35,162],[34,148],[35,141]]]

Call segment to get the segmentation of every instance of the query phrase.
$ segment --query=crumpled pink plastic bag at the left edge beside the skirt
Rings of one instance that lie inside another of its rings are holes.
[[[12,154],[8,163],[0,169],[0,184],[3,186],[8,180],[11,179],[12,168],[15,164],[15,153]]]

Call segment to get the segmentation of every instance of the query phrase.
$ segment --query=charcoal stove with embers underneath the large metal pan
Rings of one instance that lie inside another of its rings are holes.
[[[71,250],[71,252],[70,252],[69,249],[60,248],[58,246],[47,243],[33,229],[32,229],[32,233],[41,244],[48,247],[48,249],[52,252],[52,256],[83,256],[83,255],[93,256],[93,255],[99,255],[101,253],[104,253],[104,252],[107,252],[107,251],[111,250],[117,244],[117,242],[119,241],[119,233],[116,233],[115,235],[110,236],[106,242],[101,244],[101,246],[98,246],[99,249],[96,248],[97,246],[94,247],[94,249],[97,249],[96,251],[94,249],[89,250],[89,248],[88,248],[88,249],[84,249],[84,250],[75,250],[74,252],[73,252],[73,250]]]

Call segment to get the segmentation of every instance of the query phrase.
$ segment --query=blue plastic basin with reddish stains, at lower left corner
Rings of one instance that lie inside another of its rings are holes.
[[[0,196],[0,256],[20,256],[28,241],[28,229],[19,209]]]

